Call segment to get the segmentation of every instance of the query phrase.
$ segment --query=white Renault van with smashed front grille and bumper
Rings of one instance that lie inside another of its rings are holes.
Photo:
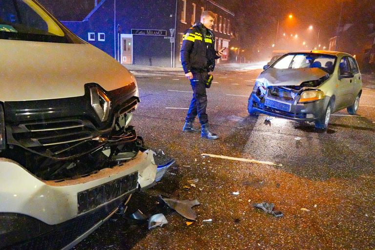
[[[70,249],[155,185],[137,82],[37,1],[0,10],[0,249]]]

